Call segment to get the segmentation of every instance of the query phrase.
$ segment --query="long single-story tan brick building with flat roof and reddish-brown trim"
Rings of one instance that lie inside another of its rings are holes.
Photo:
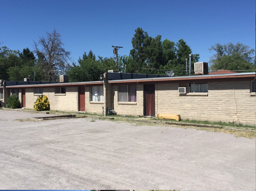
[[[16,84],[5,81],[1,100],[17,93],[33,109],[47,95],[51,110],[156,116],[255,124],[255,72],[167,76],[106,72],[103,81]],[[2,97],[3,94],[3,97]],[[2,99],[3,98],[3,99]]]

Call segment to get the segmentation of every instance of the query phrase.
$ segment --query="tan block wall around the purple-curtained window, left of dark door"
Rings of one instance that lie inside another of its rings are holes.
[[[136,86],[137,102],[118,102],[118,86],[113,85],[114,110],[118,115],[143,115],[143,85]]]

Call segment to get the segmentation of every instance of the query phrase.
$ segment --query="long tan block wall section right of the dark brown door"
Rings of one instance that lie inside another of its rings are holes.
[[[156,116],[180,114],[181,119],[255,124],[255,95],[250,93],[250,81],[210,82],[208,95],[182,95],[178,87],[178,83],[156,84]]]

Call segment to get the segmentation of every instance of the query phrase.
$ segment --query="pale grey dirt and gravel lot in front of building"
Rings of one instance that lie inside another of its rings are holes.
[[[255,138],[48,115],[0,110],[0,189],[255,190]]]

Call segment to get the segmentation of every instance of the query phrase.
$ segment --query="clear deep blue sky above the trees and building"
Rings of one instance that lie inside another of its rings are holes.
[[[96,56],[129,55],[137,27],[175,43],[183,38],[200,62],[208,62],[216,43],[241,42],[255,49],[255,0],[194,1],[37,1],[1,0],[0,42],[11,50],[28,47],[56,29],[77,62]]]

